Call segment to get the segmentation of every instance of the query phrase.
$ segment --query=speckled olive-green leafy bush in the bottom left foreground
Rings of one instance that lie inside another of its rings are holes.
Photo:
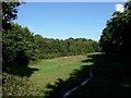
[[[38,93],[38,87],[27,77],[19,77],[8,73],[2,75],[2,96],[34,96]]]

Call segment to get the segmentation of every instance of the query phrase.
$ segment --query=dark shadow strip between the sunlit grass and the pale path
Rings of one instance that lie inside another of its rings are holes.
[[[62,78],[58,78],[55,85],[48,84],[47,85],[47,91],[46,91],[46,98],[62,98],[62,95],[72,89],[73,87],[76,87],[81,83],[83,83],[88,76],[90,69],[94,65],[97,65],[98,63],[102,63],[102,60],[105,56],[104,54],[90,54],[87,56],[87,60],[81,61],[84,63],[84,65],[81,66],[80,70],[74,70],[70,77],[66,81]],[[90,62],[93,62],[92,64],[87,64]]]

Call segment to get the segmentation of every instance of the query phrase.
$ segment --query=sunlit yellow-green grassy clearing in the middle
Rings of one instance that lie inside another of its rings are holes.
[[[79,70],[83,65],[91,65],[92,63],[81,62],[86,58],[87,56],[73,56],[31,63],[29,68],[38,69],[38,71],[35,71],[29,78],[44,90],[38,95],[45,95],[48,84],[53,85],[58,78],[66,81],[74,70]]]

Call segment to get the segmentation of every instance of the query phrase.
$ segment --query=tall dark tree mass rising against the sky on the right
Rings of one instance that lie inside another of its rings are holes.
[[[100,37],[103,51],[131,54],[131,1],[127,2],[123,12],[115,12],[107,22]]]

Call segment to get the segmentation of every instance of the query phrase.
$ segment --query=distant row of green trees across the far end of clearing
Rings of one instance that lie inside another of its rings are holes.
[[[97,41],[85,38],[69,38],[60,40],[43,38],[40,35],[35,35],[35,41],[38,46],[37,58],[39,59],[85,54],[99,51]]]

